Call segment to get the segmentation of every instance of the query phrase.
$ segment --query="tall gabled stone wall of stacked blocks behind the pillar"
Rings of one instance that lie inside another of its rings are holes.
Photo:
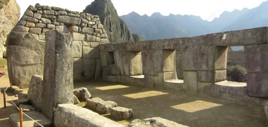
[[[8,73],[12,85],[28,87],[42,75],[46,32],[56,29],[73,37],[74,80],[101,75],[100,44],[109,43],[99,16],[58,7],[29,6],[8,36]]]

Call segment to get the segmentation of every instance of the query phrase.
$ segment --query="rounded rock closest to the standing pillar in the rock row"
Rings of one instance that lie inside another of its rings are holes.
[[[80,102],[85,102],[86,99],[92,98],[90,92],[85,87],[76,88],[73,91],[74,95],[78,98]]]

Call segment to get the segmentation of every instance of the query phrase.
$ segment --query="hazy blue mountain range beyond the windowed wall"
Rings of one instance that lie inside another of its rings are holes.
[[[194,15],[163,16],[160,13],[153,13],[151,16],[140,16],[135,12],[123,15],[121,18],[133,33],[139,34],[145,40],[155,40],[268,26],[267,12],[268,1],[253,9],[225,11],[212,21]]]

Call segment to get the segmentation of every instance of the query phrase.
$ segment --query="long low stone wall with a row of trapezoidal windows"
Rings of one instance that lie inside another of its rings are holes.
[[[247,93],[267,98],[267,31],[267,27],[259,27],[191,38],[100,45],[103,79],[199,92],[226,80],[228,47],[245,46]],[[182,52],[183,81],[176,76],[176,50]],[[135,57],[131,57],[133,54]],[[133,68],[137,73],[131,73]]]

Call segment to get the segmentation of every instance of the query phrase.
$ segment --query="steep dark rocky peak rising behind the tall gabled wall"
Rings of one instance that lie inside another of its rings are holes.
[[[83,12],[100,16],[110,43],[143,41],[138,35],[131,34],[126,23],[117,15],[111,0],[95,0]]]

